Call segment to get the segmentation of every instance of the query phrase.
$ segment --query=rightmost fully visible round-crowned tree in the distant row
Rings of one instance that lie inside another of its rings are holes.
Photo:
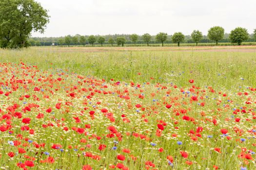
[[[249,38],[249,34],[245,28],[237,27],[229,34],[229,39],[232,43],[237,43],[238,46]]]

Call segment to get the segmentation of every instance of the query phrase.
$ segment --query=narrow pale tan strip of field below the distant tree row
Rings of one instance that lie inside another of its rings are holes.
[[[39,47],[37,50],[56,52],[107,52],[107,51],[198,51],[198,52],[256,52],[256,46],[218,47]]]

